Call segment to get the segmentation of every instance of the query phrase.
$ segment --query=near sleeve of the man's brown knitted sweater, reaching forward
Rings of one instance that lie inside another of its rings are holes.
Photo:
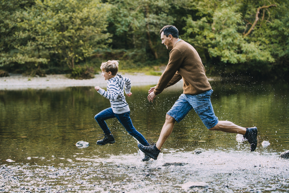
[[[184,60],[184,58],[183,58],[183,56],[179,50],[173,49],[171,51],[168,65],[166,66],[164,73],[162,73],[162,76],[160,77],[160,80],[153,91],[155,93],[155,95],[160,94],[168,86],[168,83],[175,76],[175,74],[176,74],[177,70],[179,69],[179,67],[181,66],[183,60]],[[178,76],[178,75],[176,75],[176,76]],[[177,77],[174,77],[174,78],[177,78]],[[177,80],[177,79],[175,79],[175,80]],[[171,85],[173,85],[173,84],[171,84]]]

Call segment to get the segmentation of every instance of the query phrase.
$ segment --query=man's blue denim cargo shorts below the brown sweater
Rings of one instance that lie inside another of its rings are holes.
[[[173,107],[166,113],[173,117],[178,123],[194,109],[201,118],[203,124],[208,128],[216,126],[218,117],[216,117],[211,103],[211,94],[213,90],[205,91],[196,95],[181,94]]]

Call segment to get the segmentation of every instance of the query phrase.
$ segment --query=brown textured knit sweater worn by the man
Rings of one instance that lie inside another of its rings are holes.
[[[199,94],[212,89],[198,52],[184,40],[178,41],[171,50],[168,65],[153,92],[158,95],[182,78],[184,94]]]

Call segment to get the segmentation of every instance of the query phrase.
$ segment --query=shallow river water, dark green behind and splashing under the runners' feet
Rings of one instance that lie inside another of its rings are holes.
[[[219,120],[257,126],[255,152],[236,134],[206,129],[191,111],[175,125],[158,160],[142,162],[137,141],[116,119],[107,121],[116,143],[96,144],[102,130],[94,115],[110,103],[92,87],[0,91],[0,192],[289,192],[289,160],[280,158],[289,149],[288,84],[210,83]],[[181,83],[153,103],[149,87],[133,87],[126,99],[136,129],[157,141]],[[90,145],[77,148],[81,140]],[[271,144],[262,147],[264,140]],[[164,165],[175,162],[183,164]],[[188,181],[209,187],[182,189]]]

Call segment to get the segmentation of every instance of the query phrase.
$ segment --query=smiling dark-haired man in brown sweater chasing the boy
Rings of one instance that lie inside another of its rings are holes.
[[[157,86],[149,90],[147,98],[153,102],[153,99],[165,88],[172,86],[182,78],[184,93],[167,112],[166,121],[157,143],[151,146],[138,144],[140,150],[151,158],[157,159],[164,142],[173,131],[175,121],[179,123],[190,110],[194,109],[209,130],[244,135],[244,139],[250,143],[251,151],[254,151],[257,147],[257,127],[244,128],[229,121],[219,121],[216,117],[210,99],[213,90],[205,75],[201,58],[194,47],[179,39],[179,31],[175,26],[164,26],[160,30],[160,35],[162,44],[172,50],[164,73]]]

